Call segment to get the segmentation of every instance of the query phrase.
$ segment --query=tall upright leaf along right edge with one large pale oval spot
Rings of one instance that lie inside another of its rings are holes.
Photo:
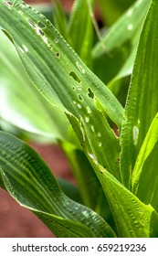
[[[155,114],[158,112],[158,3],[153,1],[142,28],[121,130],[121,173],[131,187],[132,170]]]

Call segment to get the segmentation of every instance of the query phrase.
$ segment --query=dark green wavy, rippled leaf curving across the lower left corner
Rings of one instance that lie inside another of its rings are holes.
[[[9,194],[58,237],[113,237],[100,216],[69,199],[46,163],[27,144],[0,132],[0,165]]]

